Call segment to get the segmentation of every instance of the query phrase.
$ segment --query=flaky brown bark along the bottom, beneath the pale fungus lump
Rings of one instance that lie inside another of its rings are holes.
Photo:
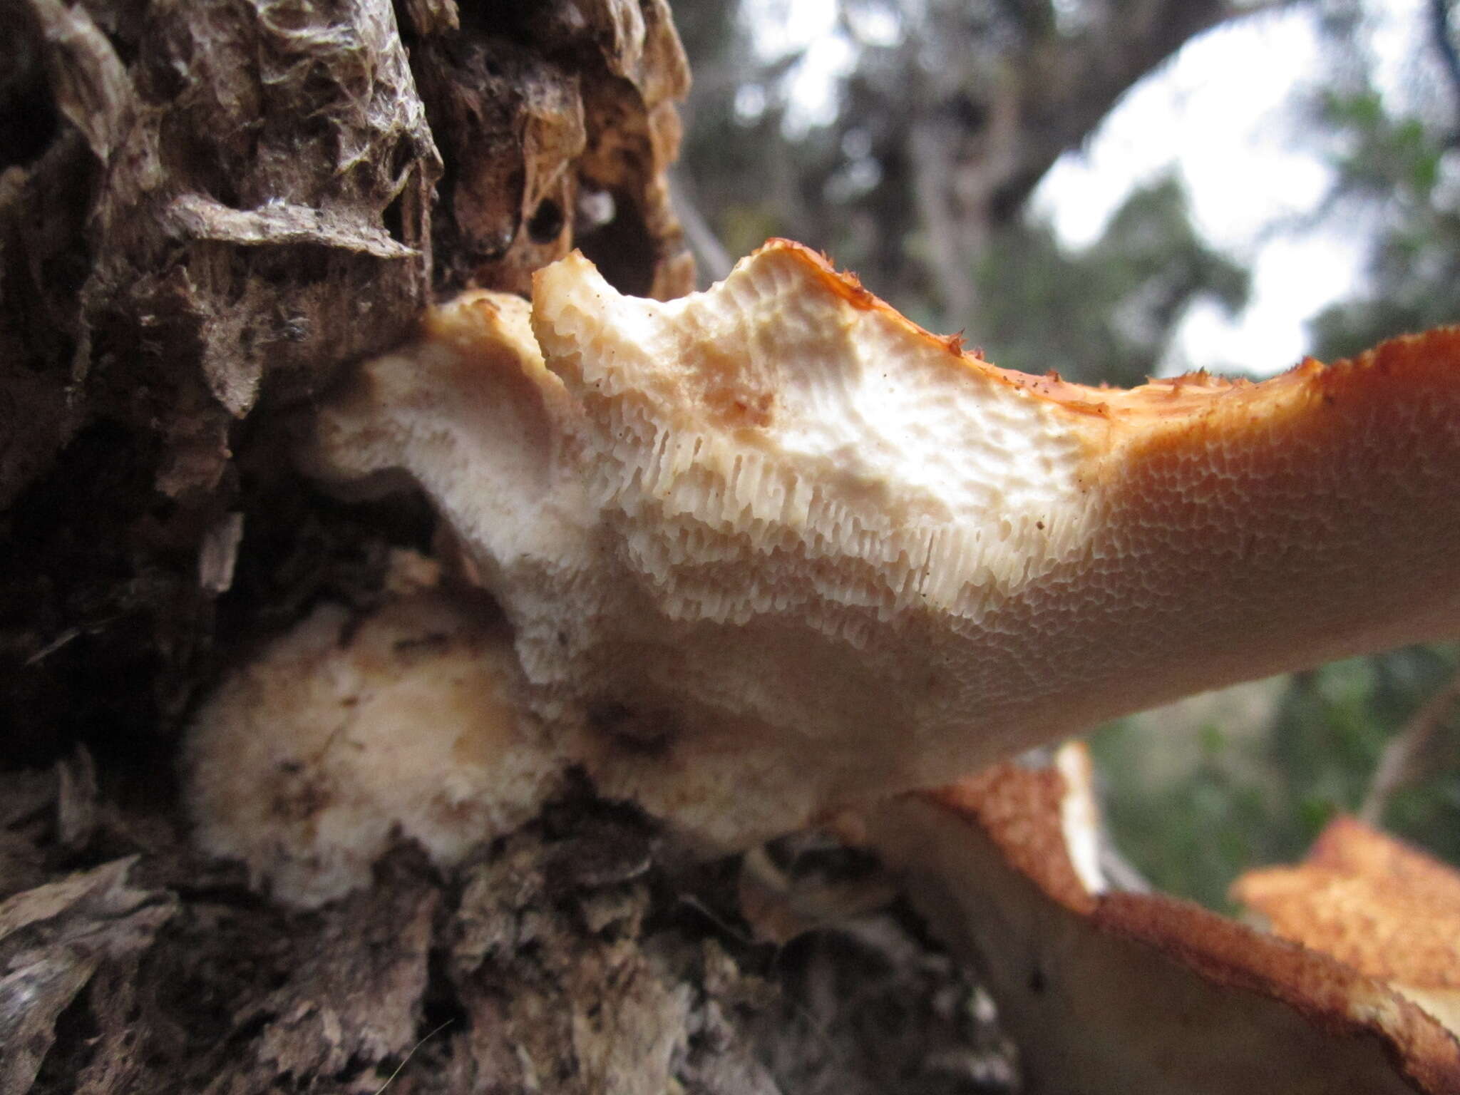
[[[53,847],[57,785],[0,775],[0,821],[12,804],[25,815],[18,840]],[[359,1095],[391,1075],[387,1091],[410,1095],[1013,1085],[987,1000],[901,911],[755,943],[734,864],[666,869],[654,828],[622,807],[555,802],[447,879],[397,847],[371,888],[307,914],[254,898],[242,872],[200,863],[180,831],[139,826],[105,796],[83,854],[128,831],[147,841],[133,877],[177,892],[175,912],[152,946],[76,974],[35,1083],[4,1095]],[[816,875],[844,876],[840,854],[818,850]]]

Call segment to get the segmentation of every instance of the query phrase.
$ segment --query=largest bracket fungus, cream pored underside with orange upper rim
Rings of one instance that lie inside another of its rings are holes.
[[[530,326],[435,312],[307,463],[415,479],[600,790],[723,845],[1460,626],[1460,330],[1088,388],[785,241],[667,304],[574,254]]]

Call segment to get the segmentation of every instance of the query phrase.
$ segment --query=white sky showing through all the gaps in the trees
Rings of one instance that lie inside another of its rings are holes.
[[[1424,35],[1424,0],[1383,0],[1368,42],[1386,96],[1406,93],[1407,60]],[[835,0],[752,0],[756,44],[766,54],[804,50],[788,96],[793,127],[834,110],[832,86],[851,64],[835,32]],[[858,28],[876,35],[877,28]],[[896,28],[885,28],[895,34]],[[1362,225],[1311,223],[1333,175],[1305,140],[1298,108],[1324,58],[1311,10],[1263,12],[1210,31],[1132,88],[1077,152],[1067,153],[1032,199],[1070,245],[1095,239],[1130,190],[1177,172],[1210,244],[1253,270],[1248,307],[1228,317],[1210,304],[1181,323],[1164,374],[1209,368],[1267,375],[1301,361],[1307,320],[1362,283]],[[1307,226],[1304,226],[1307,225]]]

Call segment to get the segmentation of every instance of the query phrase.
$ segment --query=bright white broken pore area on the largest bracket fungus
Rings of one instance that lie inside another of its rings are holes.
[[[686,548],[712,550],[695,536],[712,531],[864,561],[886,612],[975,615],[1083,543],[1070,413],[847,301],[804,257],[762,251],[670,304],[587,263],[550,273],[539,339],[619,464],[600,499],[679,520]]]

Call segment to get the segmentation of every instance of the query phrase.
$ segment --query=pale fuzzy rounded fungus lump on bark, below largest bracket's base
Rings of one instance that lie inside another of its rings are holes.
[[[321,604],[235,672],[188,739],[194,840],[318,905],[366,885],[393,840],[437,863],[511,831],[565,761],[514,696],[501,622],[431,588],[355,616]]]

